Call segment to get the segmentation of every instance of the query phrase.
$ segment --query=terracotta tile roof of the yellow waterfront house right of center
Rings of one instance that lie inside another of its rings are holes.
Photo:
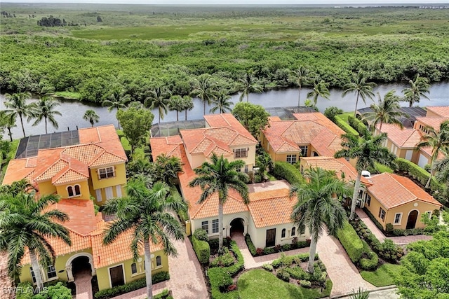
[[[311,144],[319,155],[333,155],[341,148],[344,131],[321,113],[294,113],[297,120],[270,118],[264,136],[276,153],[298,151]]]

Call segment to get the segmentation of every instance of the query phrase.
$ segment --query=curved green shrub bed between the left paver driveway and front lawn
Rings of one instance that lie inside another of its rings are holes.
[[[228,291],[230,286],[232,286],[232,277],[243,270],[243,256],[240,252],[239,246],[237,246],[235,241],[230,242],[230,250],[234,252],[237,262],[229,267],[213,267],[207,272],[210,292],[212,293],[213,299],[236,299],[239,298],[238,291]]]

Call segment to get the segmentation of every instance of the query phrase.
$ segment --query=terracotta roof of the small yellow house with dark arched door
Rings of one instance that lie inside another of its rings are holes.
[[[404,176],[385,172],[372,176],[370,180],[373,185],[368,186],[368,191],[387,209],[415,200],[434,204],[436,209],[442,207],[434,197]]]

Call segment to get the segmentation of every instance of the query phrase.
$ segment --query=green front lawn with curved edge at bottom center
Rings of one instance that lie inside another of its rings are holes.
[[[302,288],[288,284],[266,270],[256,269],[243,273],[237,282],[240,298],[242,299],[313,299],[323,298],[330,294],[332,281],[326,284],[326,290],[321,293],[316,289]]]

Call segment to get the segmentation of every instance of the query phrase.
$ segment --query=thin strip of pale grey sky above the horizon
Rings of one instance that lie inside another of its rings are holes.
[[[449,0],[0,0],[13,3],[98,3],[98,4],[449,4]]]

